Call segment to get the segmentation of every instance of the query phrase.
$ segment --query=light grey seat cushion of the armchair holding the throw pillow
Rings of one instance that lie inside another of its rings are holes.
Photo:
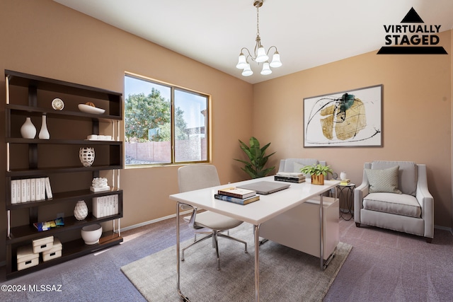
[[[370,193],[363,199],[363,208],[416,218],[421,215],[417,199],[408,194]]]

